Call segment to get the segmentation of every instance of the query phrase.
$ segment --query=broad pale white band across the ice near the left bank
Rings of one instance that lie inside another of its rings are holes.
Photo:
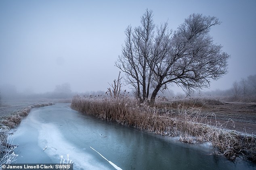
[[[77,167],[74,169],[108,169],[104,164],[95,160],[91,154],[88,154],[85,150],[81,150],[81,148],[73,145],[73,143],[69,143],[56,125],[39,121],[40,117],[38,113],[30,113],[26,120],[30,128],[32,126],[38,130],[38,146],[42,148],[47,145],[44,153],[52,158],[54,162],[59,162],[61,155],[70,154],[74,166]]]

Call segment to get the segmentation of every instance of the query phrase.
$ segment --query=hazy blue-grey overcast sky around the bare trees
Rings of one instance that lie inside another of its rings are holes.
[[[229,73],[210,90],[256,74],[256,0],[0,0],[0,85],[49,92],[69,83],[74,92],[107,90],[128,25],[146,9],[170,29],[192,13],[216,16],[210,35],[231,55]]]

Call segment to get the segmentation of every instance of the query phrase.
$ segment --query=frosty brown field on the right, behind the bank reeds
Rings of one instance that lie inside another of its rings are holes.
[[[226,100],[190,98],[182,100],[159,101],[159,105],[167,105],[176,109],[177,104],[185,107],[198,107],[202,115],[214,114],[216,122],[227,129],[243,133],[256,134],[256,103],[255,102],[231,102]]]

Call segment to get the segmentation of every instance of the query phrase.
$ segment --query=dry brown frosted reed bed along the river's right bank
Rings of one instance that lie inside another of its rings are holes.
[[[126,97],[80,96],[73,97],[71,108],[155,134],[180,136],[180,141],[187,143],[211,142],[218,150],[216,153],[223,154],[230,160],[242,155],[256,161],[255,135],[227,130],[225,124],[216,121],[214,114],[202,115],[201,108],[183,107],[181,104],[175,109],[159,105],[150,107],[146,103],[141,104]]]

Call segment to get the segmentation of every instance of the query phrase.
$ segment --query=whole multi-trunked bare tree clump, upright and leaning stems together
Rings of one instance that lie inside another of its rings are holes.
[[[126,73],[126,82],[138,98],[145,101],[150,96],[151,104],[159,90],[170,84],[185,92],[207,88],[211,79],[227,73],[229,55],[209,35],[210,27],[219,24],[216,17],[191,14],[172,31],[167,23],[155,27],[153,12],[146,10],[141,26],[127,27],[116,66]]]

